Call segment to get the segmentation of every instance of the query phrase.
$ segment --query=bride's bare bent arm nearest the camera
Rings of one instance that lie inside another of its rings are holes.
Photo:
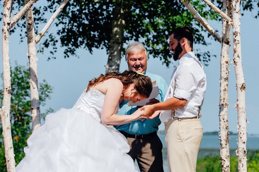
[[[141,111],[137,110],[131,115],[116,115],[114,114],[117,103],[121,97],[123,85],[118,79],[108,79],[105,83],[107,92],[104,98],[101,120],[103,124],[126,124],[137,120],[141,115]]]

